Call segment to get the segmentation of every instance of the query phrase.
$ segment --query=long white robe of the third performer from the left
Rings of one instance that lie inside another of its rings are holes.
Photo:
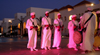
[[[60,22],[60,24],[59,24]],[[63,22],[61,19],[55,19],[54,20],[54,27],[55,27],[55,30],[54,30],[54,40],[53,40],[53,47],[59,47],[60,43],[61,43],[61,30],[58,31],[58,28],[56,26],[59,26],[59,25],[63,25]]]

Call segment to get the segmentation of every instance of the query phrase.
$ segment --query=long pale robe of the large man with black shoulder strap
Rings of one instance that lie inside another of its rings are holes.
[[[83,15],[81,19],[81,25],[83,25],[86,20],[90,17],[92,13],[87,12]],[[94,43],[94,31],[95,31],[95,15],[92,16],[92,18],[87,22],[87,24],[84,25],[84,27],[87,26],[86,32],[83,32],[83,43],[81,46],[82,50],[89,50],[92,51],[93,49],[93,43]]]

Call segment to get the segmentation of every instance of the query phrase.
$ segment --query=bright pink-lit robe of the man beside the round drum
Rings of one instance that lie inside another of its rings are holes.
[[[74,24],[78,25],[77,21],[69,21],[68,23],[68,29],[69,29],[69,43],[68,43],[68,48],[75,48],[76,47],[76,43],[73,40],[73,34],[74,34]]]

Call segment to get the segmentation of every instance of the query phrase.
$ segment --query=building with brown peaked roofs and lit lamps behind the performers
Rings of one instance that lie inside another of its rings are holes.
[[[99,0],[100,2],[100,0]],[[82,2],[76,4],[75,6],[67,5],[64,7],[61,7],[58,9],[59,13],[62,15],[62,20],[64,23],[64,30],[62,32],[62,35],[68,35],[68,22],[70,21],[70,16],[76,14],[77,15],[77,21],[80,20],[80,16],[82,16],[86,11],[87,7],[93,8],[93,10],[97,11],[100,10],[100,3],[99,4],[93,4],[89,1],[83,0]],[[56,11],[53,11],[50,13],[50,17],[57,17],[57,15],[54,15]]]

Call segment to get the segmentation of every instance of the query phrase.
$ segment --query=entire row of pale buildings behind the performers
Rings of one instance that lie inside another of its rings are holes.
[[[91,7],[93,8],[93,11],[97,11],[100,10],[100,0],[99,0],[99,4],[93,4],[89,1],[83,0],[82,2],[71,6],[71,5],[67,5],[64,7],[61,7],[60,9],[46,9],[46,8],[36,8],[36,7],[30,7],[26,9],[26,13],[16,13],[15,14],[15,18],[12,19],[12,26],[17,26],[17,28],[19,28],[19,30],[16,30],[16,32],[19,35],[23,35],[27,33],[27,29],[26,29],[26,22],[27,19],[30,18],[30,13],[31,12],[35,12],[36,13],[36,19],[37,19],[37,23],[40,26],[41,25],[41,19],[42,17],[45,16],[45,12],[46,11],[50,11],[49,12],[49,17],[51,18],[52,24],[54,22],[54,19],[57,18],[57,13],[61,13],[62,17],[61,19],[63,20],[64,23],[64,30],[62,32],[62,35],[68,35],[68,22],[71,20],[71,16],[76,14],[77,15],[77,21],[80,20],[80,16],[82,16],[86,11],[87,11],[87,7]],[[2,29],[3,29],[3,33],[7,33],[8,32],[8,27],[9,27],[9,19],[4,18],[3,22],[2,22]],[[54,33],[54,32],[52,32]]]

